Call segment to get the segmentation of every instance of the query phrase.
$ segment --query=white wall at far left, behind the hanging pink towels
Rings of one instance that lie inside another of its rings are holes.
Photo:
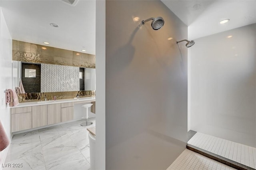
[[[12,88],[12,38],[0,9],[0,120],[10,139],[10,108],[6,106],[4,90]],[[7,149],[0,152],[0,164],[5,160]]]

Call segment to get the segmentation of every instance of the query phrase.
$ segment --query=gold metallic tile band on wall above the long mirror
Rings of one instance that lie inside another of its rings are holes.
[[[12,40],[12,60],[95,68],[95,55],[17,40]]]

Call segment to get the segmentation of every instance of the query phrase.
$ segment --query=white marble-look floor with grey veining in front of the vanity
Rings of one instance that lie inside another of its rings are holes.
[[[84,120],[16,134],[13,136],[3,170],[89,170],[88,127]]]

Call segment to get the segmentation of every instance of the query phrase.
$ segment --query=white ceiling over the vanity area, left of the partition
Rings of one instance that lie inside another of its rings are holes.
[[[12,39],[95,54],[95,0],[1,0],[1,7]]]

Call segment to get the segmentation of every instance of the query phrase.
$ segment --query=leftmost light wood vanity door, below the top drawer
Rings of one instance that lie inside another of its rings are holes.
[[[32,128],[32,112],[12,114],[12,132]]]

